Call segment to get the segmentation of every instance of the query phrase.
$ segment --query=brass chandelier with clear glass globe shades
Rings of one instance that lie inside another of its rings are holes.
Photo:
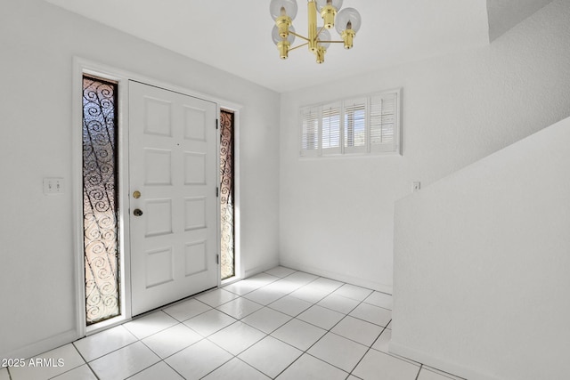
[[[308,0],[307,2],[307,23],[308,36],[297,35],[293,28],[293,19],[297,16],[297,0],[271,0],[269,12],[275,26],[273,27],[273,42],[279,49],[281,60],[289,57],[289,52],[302,46],[308,46],[313,52],[317,63],[324,62],[324,54],[330,44],[345,44],[345,49],[353,47],[354,36],[361,26],[360,13],[354,8],[345,8],[338,12],[343,0]],[[322,26],[317,26],[317,12],[321,13]],[[335,20],[336,19],[336,20]],[[335,27],[342,41],[332,41],[330,39],[330,28]],[[291,47],[295,42],[295,37],[305,41]]]

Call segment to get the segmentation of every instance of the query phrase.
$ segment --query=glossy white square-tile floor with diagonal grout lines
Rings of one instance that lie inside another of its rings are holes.
[[[387,353],[392,298],[276,267],[1,368],[0,380],[459,377]]]

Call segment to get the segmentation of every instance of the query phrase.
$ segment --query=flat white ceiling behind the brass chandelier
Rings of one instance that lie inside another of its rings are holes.
[[[486,0],[344,0],[362,28],[354,49],[331,44],[322,65],[305,48],[279,59],[269,0],[46,1],[277,92],[489,44]],[[293,25],[306,35],[297,3]]]

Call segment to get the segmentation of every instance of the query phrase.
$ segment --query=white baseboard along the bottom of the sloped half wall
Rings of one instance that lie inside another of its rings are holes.
[[[388,344],[388,352],[394,353],[398,356],[417,361],[425,364],[431,368],[436,368],[441,371],[453,374],[455,376],[464,377],[469,380],[501,380],[499,377],[484,374],[473,368],[465,368],[456,363],[447,360],[434,358],[426,352],[419,352],[406,347],[402,344],[397,344],[392,341]]]

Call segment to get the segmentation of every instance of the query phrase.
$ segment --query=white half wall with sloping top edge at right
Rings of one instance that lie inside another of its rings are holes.
[[[476,379],[568,377],[570,118],[398,201],[390,350]]]

